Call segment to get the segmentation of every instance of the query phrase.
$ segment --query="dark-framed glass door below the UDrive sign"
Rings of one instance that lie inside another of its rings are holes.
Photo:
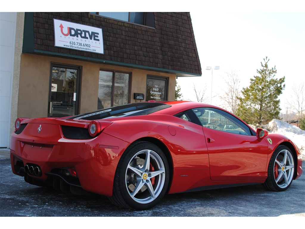
[[[80,68],[51,65],[48,117],[78,114]]]

